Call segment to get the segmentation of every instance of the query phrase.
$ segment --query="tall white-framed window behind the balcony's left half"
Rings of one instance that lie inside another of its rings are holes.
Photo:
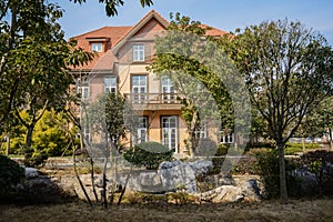
[[[133,101],[143,102],[147,97],[147,75],[133,74],[132,75],[132,95]]]

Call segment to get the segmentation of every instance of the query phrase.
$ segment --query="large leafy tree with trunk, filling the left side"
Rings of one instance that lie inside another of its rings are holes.
[[[83,64],[93,54],[67,42],[58,23],[62,11],[57,4],[38,0],[4,1],[1,17],[1,130],[9,114],[14,114],[27,129],[26,160],[32,154],[32,132],[46,110],[63,108],[71,75],[69,65]],[[33,14],[33,16],[32,16]],[[23,119],[22,109],[30,115]]]

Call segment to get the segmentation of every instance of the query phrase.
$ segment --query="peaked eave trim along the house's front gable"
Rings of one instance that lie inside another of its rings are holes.
[[[112,51],[114,54],[119,51],[119,49],[127,42],[128,39],[133,37],[144,24],[147,24],[152,18],[157,19],[165,29],[169,26],[169,21],[167,21],[160,13],[158,13],[155,10],[151,10],[148,14],[145,14],[135,26],[133,26],[130,30],[128,30],[127,33],[123,34],[122,38],[120,38],[114,47],[112,48]]]

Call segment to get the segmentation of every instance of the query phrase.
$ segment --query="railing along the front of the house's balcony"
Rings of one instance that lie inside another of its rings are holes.
[[[180,104],[176,93],[128,93],[124,95],[133,104]]]

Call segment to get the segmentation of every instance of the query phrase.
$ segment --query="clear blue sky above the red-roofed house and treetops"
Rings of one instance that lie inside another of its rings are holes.
[[[266,20],[287,18],[299,20],[306,28],[323,34],[333,46],[332,0],[153,0],[154,6],[141,8],[139,0],[124,0],[118,17],[108,18],[98,0],[74,4],[69,0],[58,2],[65,11],[60,23],[70,38],[104,26],[133,26],[150,10],[157,10],[169,20],[170,12],[181,12],[224,31],[234,31]]]

